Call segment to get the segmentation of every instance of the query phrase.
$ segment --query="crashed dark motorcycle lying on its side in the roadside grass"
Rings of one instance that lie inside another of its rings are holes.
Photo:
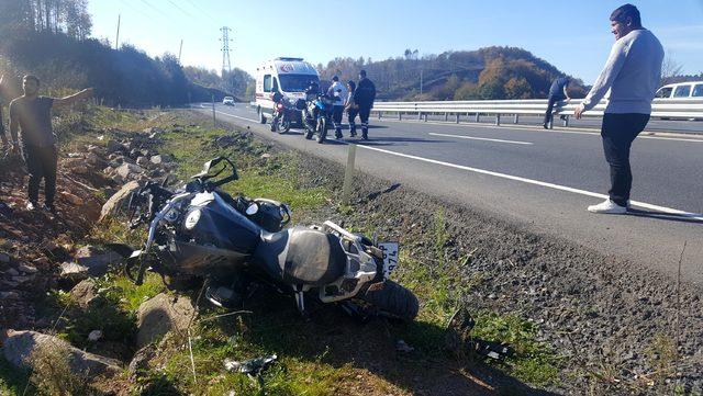
[[[122,246],[126,275],[138,285],[153,271],[177,290],[204,281],[204,296],[228,308],[243,303],[249,286],[264,285],[294,296],[303,315],[313,302],[357,317],[414,319],[417,298],[388,279],[397,244],[375,244],[332,222],[283,229],[288,206],[220,189],[237,179],[234,163],[219,157],[180,190],[147,182],[135,192],[131,227],[148,225],[148,236],[140,250]]]

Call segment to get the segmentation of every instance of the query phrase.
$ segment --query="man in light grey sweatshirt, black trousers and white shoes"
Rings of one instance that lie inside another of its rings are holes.
[[[609,199],[589,206],[589,212],[622,214],[629,206],[633,174],[629,148],[651,114],[651,100],[661,78],[663,48],[659,39],[641,26],[639,10],[625,4],[611,14],[615,44],[593,88],[573,112],[577,120],[593,109],[610,89],[601,137],[611,168]]]

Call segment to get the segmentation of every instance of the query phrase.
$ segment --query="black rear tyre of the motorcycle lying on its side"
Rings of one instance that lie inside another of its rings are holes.
[[[382,313],[404,321],[412,321],[420,310],[413,292],[393,281],[386,281],[383,288],[359,293],[358,298],[373,305]]]

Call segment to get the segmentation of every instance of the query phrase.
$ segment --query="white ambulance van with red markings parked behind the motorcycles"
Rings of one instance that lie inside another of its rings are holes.
[[[266,124],[266,114],[274,114],[272,92],[280,91],[291,101],[305,98],[305,90],[320,83],[315,68],[302,58],[276,58],[256,69],[256,112]]]

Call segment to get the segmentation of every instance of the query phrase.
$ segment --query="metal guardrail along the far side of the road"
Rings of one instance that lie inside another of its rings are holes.
[[[569,126],[569,116],[581,104],[580,99],[555,104],[554,114],[566,115],[563,126]],[[583,116],[603,116],[607,101],[601,101],[594,109],[583,113]],[[501,124],[501,116],[512,115],[514,123],[520,122],[521,115],[544,115],[547,111],[546,99],[528,100],[487,100],[487,101],[427,101],[427,102],[376,102],[372,113],[379,120],[384,113],[397,114],[399,120],[403,115],[415,115],[417,120],[427,121],[427,115],[444,115],[445,121],[453,116],[458,124],[460,117],[473,116],[480,122],[481,116],[494,116],[495,125]],[[651,104],[651,116],[661,118],[703,120],[703,99],[655,99]],[[549,125],[551,127],[553,125]]]

